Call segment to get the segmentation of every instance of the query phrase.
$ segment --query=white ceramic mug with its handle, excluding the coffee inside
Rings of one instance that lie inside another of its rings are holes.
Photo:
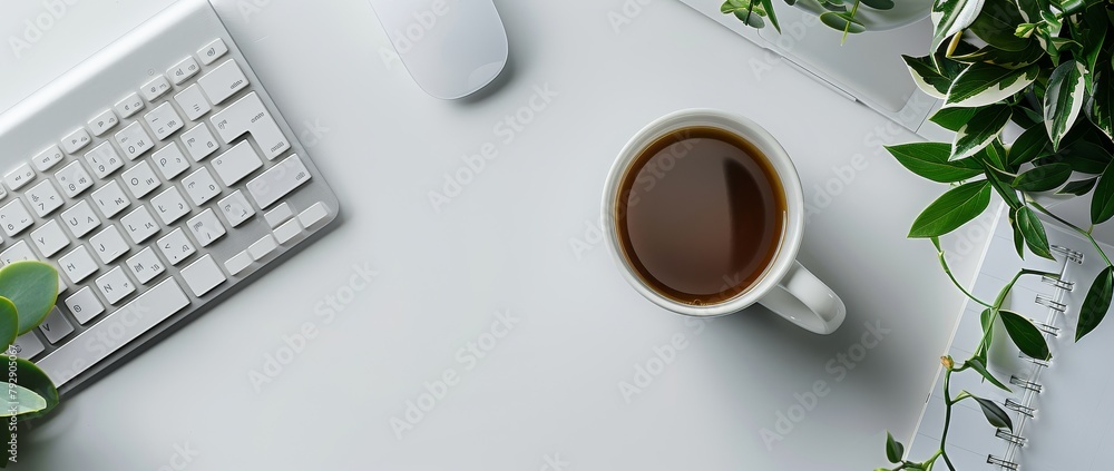
[[[742,137],[766,157],[785,192],[785,227],[775,255],[751,286],[721,303],[685,304],[656,292],[631,266],[618,238],[615,215],[618,212],[620,184],[627,178],[635,159],[652,143],[678,129],[705,126]],[[638,293],[658,306],[691,316],[720,316],[760,303],[808,331],[830,334],[843,323],[847,308],[831,288],[797,262],[804,237],[804,190],[797,167],[770,133],[758,124],[732,114],[713,109],[688,109],[651,122],[619,153],[604,187],[602,226],[608,251],[622,267],[623,276]]]

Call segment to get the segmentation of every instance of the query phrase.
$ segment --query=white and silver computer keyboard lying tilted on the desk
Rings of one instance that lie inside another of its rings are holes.
[[[330,227],[339,205],[206,0],[0,115],[0,264],[59,272],[11,350],[62,394]]]

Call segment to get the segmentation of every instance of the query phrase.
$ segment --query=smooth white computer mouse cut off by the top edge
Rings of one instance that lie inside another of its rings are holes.
[[[457,99],[507,65],[507,31],[491,0],[370,0],[394,50],[422,90]]]

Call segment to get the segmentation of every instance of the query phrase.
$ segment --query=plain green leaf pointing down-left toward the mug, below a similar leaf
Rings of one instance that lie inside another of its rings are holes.
[[[973,181],[949,189],[912,223],[909,237],[936,237],[967,224],[990,205],[990,183]]]

